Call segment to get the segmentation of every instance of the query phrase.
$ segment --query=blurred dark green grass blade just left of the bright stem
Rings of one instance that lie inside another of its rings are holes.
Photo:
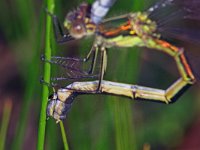
[[[36,88],[39,86],[38,56],[40,53],[37,50],[39,50],[41,48],[41,39],[42,39],[41,32],[42,32],[42,24],[43,24],[42,20],[44,18],[44,13],[39,13],[39,14],[41,14],[39,19],[36,20],[35,17],[31,18],[31,20],[34,20],[33,26],[34,27],[36,26],[36,29],[34,28],[34,29],[30,30],[30,32],[29,32],[29,36],[34,37],[34,39],[31,38],[31,44],[29,44],[29,46],[31,47],[30,51],[32,52],[32,57],[30,58],[31,61],[26,62],[26,65],[23,64],[24,68],[26,68],[26,73],[25,73],[24,77],[27,82],[25,82],[26,88],[24,90],[23,103],[22,103],[22,106],[20,109],[19,121],[16,122],[15,137],[17,137],[17,138],[14,138],[12,145],[11,145],[11,149],[13,149],[13,150],[22,149],[22,146],[24,144],[23,140],[24,140],[25,134],[27,133],[26,132],[27,122],[29,120],[29,115],[30,115],[30,113],[28,113],[28,112],[30,112],[34,94],[35,93],[39,94],[39,92],[40,92],[38,90],[38,88]],[[35,82],[35,81],[38,81],[38,82]],[[25,113],[25,112],[27,112],[27,113]]]

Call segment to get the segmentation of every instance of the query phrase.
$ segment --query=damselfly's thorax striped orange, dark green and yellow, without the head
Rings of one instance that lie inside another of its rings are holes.
[[[158,38],[156,23],[146,13],[129,13],[99,24],[96,43],[105,47],[145,46],[148,40]]]

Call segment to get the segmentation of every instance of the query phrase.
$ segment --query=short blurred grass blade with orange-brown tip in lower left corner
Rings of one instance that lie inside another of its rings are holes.
[[[7,99],[3,108],[3,118],[0,130],[0,150],[4,150],[5,142],[6,142],[6,133],[10,120],[10,113],[12,110],[12,101]]]

